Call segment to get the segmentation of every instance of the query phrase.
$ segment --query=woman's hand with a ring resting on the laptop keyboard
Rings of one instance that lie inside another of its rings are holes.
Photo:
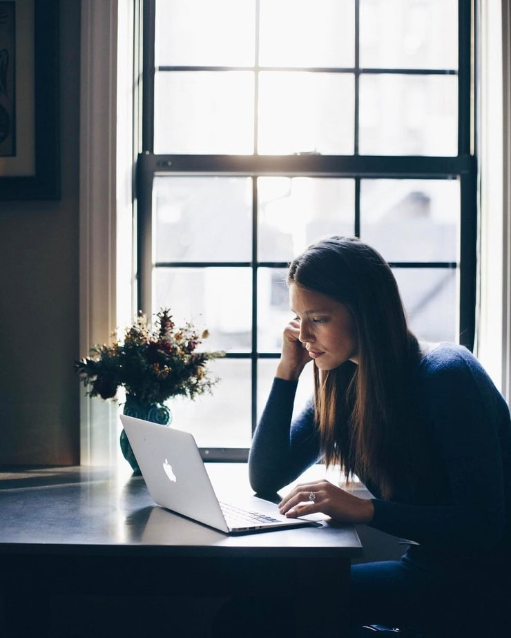
[[[370,499],[360,499],[325,479],[297,485],[278,507],[289,518],[321,512],[340,523],[370,523],[374,515]]]

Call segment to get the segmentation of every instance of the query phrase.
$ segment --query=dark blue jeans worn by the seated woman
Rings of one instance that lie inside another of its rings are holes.
[[[508,579],[509,580],[509,579]],[[470,565],[463,573],[427,568],[407,554],[401,561],[351,567],[351,625],[414,627],[429,638],[490,638],[510,635],[510,590]],[[509,583],[508,583],[509,587]]]

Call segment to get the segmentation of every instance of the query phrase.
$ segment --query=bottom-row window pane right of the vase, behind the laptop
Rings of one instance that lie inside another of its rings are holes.
[[[175,397],[168,401],[173,425],[195,436],[200,447],[250,447],[251,363],[218,359],[208,365],[219,379],[213,394],[191,401]]]

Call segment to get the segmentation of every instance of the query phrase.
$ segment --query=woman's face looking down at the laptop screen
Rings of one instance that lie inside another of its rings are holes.
[[[289,299],[300,324],[298,338],[319,369],[358,363],[358,334],[347,305],[298,284],[289,287]]]

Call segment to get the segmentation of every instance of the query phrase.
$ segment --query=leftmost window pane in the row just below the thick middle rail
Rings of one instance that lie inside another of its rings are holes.
[[[250,261],[251,184],[249,177],[155,177],[156,261]]]

